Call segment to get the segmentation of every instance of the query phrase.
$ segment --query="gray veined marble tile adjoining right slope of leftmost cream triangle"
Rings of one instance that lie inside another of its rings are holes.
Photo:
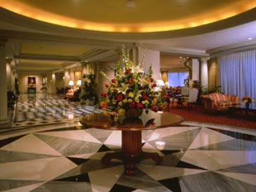
[[[36,137],[46,142],[46,144],[53,147],[53,149],[65,156],[74,154],[90,154],[97,152],[102,144],[92,142],[82,142],[73,139],[65,139],[59,137],[51,137],[46,135],[36,134]]]

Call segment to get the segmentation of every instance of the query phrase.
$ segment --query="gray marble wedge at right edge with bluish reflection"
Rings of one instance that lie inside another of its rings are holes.
[[[200,150],[225,150],[225,151],[256,151],[256,142],[250,142],[243,139],[232,139],[227,142],[210,144],[202,146]]]

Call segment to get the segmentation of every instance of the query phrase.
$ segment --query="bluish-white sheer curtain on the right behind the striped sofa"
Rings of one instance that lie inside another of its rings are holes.
[[[256,50],[221,56],[219,70],[222,92],[256,98]]]

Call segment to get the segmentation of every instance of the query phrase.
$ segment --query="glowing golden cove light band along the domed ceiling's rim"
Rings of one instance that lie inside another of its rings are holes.
[[[26,1],[24,1],[26,2]],[[127,8],[139,9],[139,1],[136,0],[126,0],[124,1]],[[160,31],[173,31],[184,28],[193,28],[197,26],[206,25],[216,21],[221,21],[225,18],[230,18],[238,14],[242,14],[245,11],[249,11],[256,7],[256,0],[252,0],[250,5],[240,6],[242,3],[238,1],[237,4],[230,6],[226,9],[216,10],[213,13],[208,14],[198,14],[194,16],[181,17],[169,20],[159,20],[159,21],[147,21],[147,22],[133,22],[130,21],[123,23],[121,21],[113,22],[101,22],[93,21],[82,18],[73,18],[68,15],[58,14],[40,9],[35,6],[30,6],[29,4],[22,3],[22,1],[9,0],[1,1],[0,6],[4,9],[12,11],[16,14],[22,16],[27,16],[29,18],[36,19],[38,21],[43,21],[47,23],[52,23],[58,26],[65,26],[70,28],[80,28],[89,31],[104,31],[104,32],[119,32],[119,33],[149,33],[149,32],[160,32]],[[133,10],[133,9],[131,9]]]

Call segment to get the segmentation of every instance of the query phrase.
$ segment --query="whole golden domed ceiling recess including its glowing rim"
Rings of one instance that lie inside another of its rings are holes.
[[[193,28],[256,7],[256,0],[55,0],[0,1],[0,6],[38,21],[88,31],[146,33]]]

